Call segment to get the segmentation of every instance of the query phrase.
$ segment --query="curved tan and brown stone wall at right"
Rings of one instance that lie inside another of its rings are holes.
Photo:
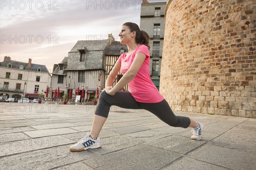
[[[255,2],[167,1],[160,92],[173,110],[256,118]]]

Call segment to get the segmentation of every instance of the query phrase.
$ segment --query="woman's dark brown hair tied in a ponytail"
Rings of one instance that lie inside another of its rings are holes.
[[[148,46],[148,49],[150,49],[150,46],[148,45],[149,36],[147,32],[140,30],[139,26],[136,23],[127,22],[124,23],[123,26],[128,26],[131,32],[136,32],[136,43],[144,44],[145,46]]]

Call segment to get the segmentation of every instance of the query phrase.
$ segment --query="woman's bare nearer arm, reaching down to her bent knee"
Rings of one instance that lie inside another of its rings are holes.
[[[122,78],[118,81],[118,83],[116,84],[116,86],[114,86],[113,88],[110,88],[108,90],[106,90],[106,92],[109,95],[115,95],[115,93],[121,89],[123,86],[125,86],[126,84],[128,84],[132,79],[135,78],[135,76],[137,75],[138,71],[140,70],[140,67],[142,66],[143,62],[145,61],[146,55],[143,52],[138,52],[135,55],[134,61],[131,63],[131,67],[127,70],[127,72],[122,76]],[[121,66],[121,64],[120,64]],[[120,68],[119,68],[120,69]],[[116,73],[117,74],[117,73]],[[115,75],[116,76],[116,75]],[[113,81],[112,81],[113,84]],[[109,86],[109,84],[107,85],[106,82],[106,86]]]

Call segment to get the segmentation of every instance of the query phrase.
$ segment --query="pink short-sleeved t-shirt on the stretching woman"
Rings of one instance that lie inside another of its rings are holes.
[[[118,61],[121,63],[122,75],[130,68],[131,63],[134,61],[135,55],[138,52],[143,52],[146,55],[145,61],[140,67],[139,72],[132,81],[128,83],[129,92],[136,101],[142,103],[157,103],[163,101],[163,96],[157,90],[157,87],[151,81],[149,73],[149,50],[145,45],[138,46],[134,52],[126,57],[126,52],[120,55]]]

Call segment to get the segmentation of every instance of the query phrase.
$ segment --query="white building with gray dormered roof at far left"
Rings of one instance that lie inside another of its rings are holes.
[[[45,65],[13,61],[5,56],[0,62],[0,96],[3,98],[38,98],[50,85],[51,75]],[[26,83],[26,84],[25,84]]]

